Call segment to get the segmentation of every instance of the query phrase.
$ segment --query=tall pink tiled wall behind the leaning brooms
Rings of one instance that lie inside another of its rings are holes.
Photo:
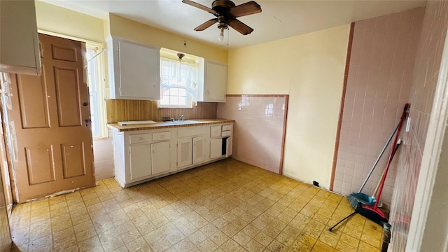
[[[333,190],[358,192],[409,102],[423,8],[355,22]],[[401,151],[401,150],[400,150]],[[372,195],[386,167],[389,149],[365,185]],[[397,158],[382,200],[390,204]]]

